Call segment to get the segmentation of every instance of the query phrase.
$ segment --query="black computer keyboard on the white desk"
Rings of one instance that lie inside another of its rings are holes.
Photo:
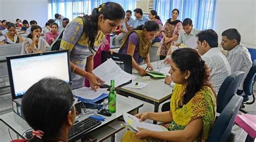
[[[102,124],[101,121],[92,118],[86,118],[82,121],[79,121],[78,123],[75,123],[69,130],[69,141],[75,140],[76,137],[82,136],[82,134],[90,131],[100,124]]]

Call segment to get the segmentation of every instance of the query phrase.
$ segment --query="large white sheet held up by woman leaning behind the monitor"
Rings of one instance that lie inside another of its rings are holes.
[[[114,79],[115,87],[135,79],[136,76],[123,71],[112,58],[106,60],[92,71],[100,79],[104,80],[105,84],[110,85],[110,80]]]

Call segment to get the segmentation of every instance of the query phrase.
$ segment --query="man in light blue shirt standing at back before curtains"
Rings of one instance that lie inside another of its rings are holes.
[[[134,9],[134,16],[136,19],[134,20],[133,24],[131,26],[128,25],[128,23],[125,21],[125,25],[128,31],[131,31],[132,29],[136,29],[139,25],[144,25],[147,21],[149,21],[149,18],[147,16],[143,15],[142,9]]]

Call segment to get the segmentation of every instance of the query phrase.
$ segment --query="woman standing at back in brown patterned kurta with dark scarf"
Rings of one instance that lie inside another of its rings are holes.
[[[165,22],[163,29],[161,30],[163,39],[161,40],[161,44],[157,51],[157,55],[160,56],[160,60],[171,55],[171,46],[176,45],[177,43],[179,32],[182,30],[182,23],[178,20],[178,16],[179,10],[173,9],[172,18]]]

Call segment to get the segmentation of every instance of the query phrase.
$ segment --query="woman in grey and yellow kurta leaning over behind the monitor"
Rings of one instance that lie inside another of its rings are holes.
[[[107,2],[93,9],[91,15],[84,16],[84,22],[77,17],[66,26],[60,50],[70,51],[71,89],[83,87],[84,78],[89,80],[94,90],[102,85],[103,80],[92,73],[93,56],[105,35],[116,30],[122,24],[124,16],[125,11],[120,4]]]

